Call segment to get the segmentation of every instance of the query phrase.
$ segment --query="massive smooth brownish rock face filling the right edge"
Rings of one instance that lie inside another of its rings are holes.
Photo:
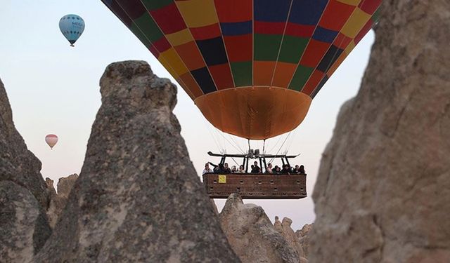
[[[383,10],[323,154],[310,262],[450,262],[450,1]]]

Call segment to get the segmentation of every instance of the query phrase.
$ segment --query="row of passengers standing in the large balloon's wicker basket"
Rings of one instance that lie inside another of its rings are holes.
[[[214,167],[210,168],[210,165]],[[205,169],[203,170],[203,175],[205,173],[246,173],[243,165],[236,168],[236,166],[228,166],[228,163],[215,165],[214,163],[205,163]],[[250,173],[252,174],[262,174],[262,169],[258,166],[258,162],[252,164]],[[304,166],[296,165],[294,168],[290,167],[288,164],[283,164],[282,167],[275,166],[273,167],[271,163],[269,163],[266,167],[266,174],[272,175],[306,175],[304,171]]]

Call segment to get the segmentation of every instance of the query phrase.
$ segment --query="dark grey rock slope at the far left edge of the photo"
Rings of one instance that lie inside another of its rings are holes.
[[[51,234],[41,162],[15,129],[0,81],[0,261],[28,262]]]

